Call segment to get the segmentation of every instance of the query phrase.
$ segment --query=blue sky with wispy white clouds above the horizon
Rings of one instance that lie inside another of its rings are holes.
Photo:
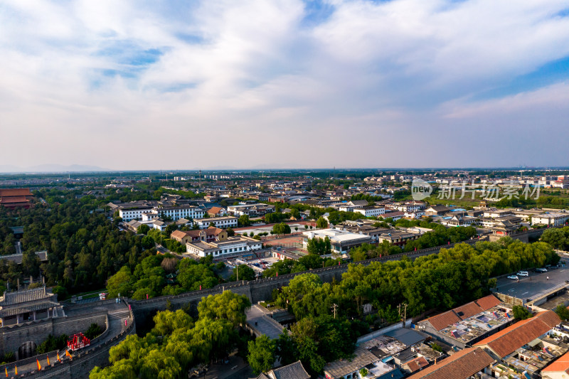
[[[569,166],[566,0],[0,0],[0,166]]]

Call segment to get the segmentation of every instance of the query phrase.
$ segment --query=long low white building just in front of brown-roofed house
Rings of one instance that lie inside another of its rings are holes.
[[[198,257],[211,255],[213,259],[216,259],[222,258],[225,255],[246,255],[248,252],[252,253],[254,250],[259,250],[261,247],[262,242],[240,235],[238,237],[229,237],[227,240],[223,241],[188,242],[186,243],[186,252],[197,255]]]

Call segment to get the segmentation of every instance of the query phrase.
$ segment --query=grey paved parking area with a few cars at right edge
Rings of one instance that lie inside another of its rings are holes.
[[[548,279],[549,277],[549,279]],[[540,294],[553,290],[555,287],[563,287],[565,280],[569,280],[569,269],[551,269],[548,272],[529,272],[529,277],[519,277],[517,282],[513,279],[501,277],[498,279],[498,292],[519,299],[533,299]]]

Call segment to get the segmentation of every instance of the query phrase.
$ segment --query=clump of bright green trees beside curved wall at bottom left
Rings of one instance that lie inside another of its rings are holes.
[[[186,378],[189,368],[225,358],[238,346],[250,305],[244,295],[225,291],[200,301],[196,321],[183,310],[159,311],[146,336],[113,346],[110,366],[95,367],[89,378]]]

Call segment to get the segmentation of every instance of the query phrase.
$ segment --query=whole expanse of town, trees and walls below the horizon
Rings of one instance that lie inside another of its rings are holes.
[[[563,169],[0,174],[0,370],[563,379],[568,224]]]

